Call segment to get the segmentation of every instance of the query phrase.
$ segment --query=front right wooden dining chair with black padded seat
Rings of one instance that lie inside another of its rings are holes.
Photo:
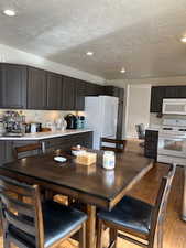
[[[162,179],[155,205],[138,198],[124,196],[111,211],[98,213],[97,248],[102,248],[102,233],[110,228],[109,248],[117,247],[117,238],[123,238],[146,248],[163,247],[163,223],[166,214],[167,200],[176,165],[172,165],[167,176]],[[122,234],[121,234],[122,231]]]

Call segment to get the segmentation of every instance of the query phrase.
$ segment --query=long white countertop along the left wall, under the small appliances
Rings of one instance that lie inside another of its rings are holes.
[[[23,137],[0,137],[0,141],[6,140],[44,140],[52,139],[63,136],[78,134],[83,132],[90,132],[89,129],[67,129],[65,131],[50,131],[50,132],[36,132],[36,133],[25,133]]]

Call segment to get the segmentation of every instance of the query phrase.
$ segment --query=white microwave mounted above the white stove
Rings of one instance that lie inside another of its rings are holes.
[[[186,115],[186,99],[163,99],[163,114]]]

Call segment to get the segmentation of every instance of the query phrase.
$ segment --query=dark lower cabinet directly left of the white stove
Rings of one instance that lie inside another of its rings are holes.
[[[157,159],[158,131],[146,130],[144,142],[144,155],[150,159]]]

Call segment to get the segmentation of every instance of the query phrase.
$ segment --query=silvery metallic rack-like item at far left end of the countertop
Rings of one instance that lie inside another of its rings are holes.
[[[25,133],[25,116],[18,111],[6,111],[3,115],[4,136],[22,137]]]

